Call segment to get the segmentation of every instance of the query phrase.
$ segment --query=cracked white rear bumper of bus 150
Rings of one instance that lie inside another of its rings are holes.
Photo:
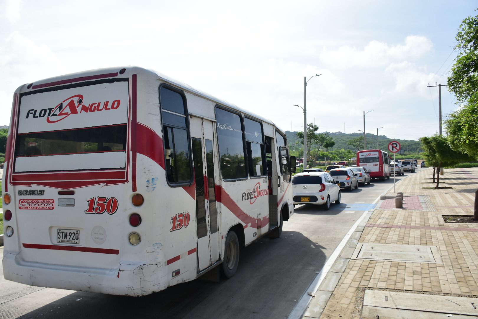
[[[161,291],[168,286],[168,282],[161,282],[161,270],[161,264],[140,264],[131,270],[120,270],[27,262],[18,254],[3,255],[3,276],[7,280],[110,295],[145,296]]]

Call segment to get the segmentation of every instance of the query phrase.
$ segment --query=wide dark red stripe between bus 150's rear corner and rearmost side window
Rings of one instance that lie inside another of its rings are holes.
[[[151,158],[163,169],[166,169],[163,139],[151,128],[141,123],[137,123],[136,132],[137,136],[140,136],[136,141],[136,151]]]

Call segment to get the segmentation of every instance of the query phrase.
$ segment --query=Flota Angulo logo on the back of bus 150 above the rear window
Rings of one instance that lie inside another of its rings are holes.
[[[109,101],[89,103],[88,105],[83,104],[84,102],[83,95],[77,94],[68,99],[64,99],[54,108],[35,110],[30,109],[27,111],[26,119],[28,118],[43,118],[46,116],[46,121],[48,123],[55,123],[61,120],[64,120],[70,115],[88,113],[88,112],[99,112],[103,110],[116,110],[120,107],[121,100],[116,99],[111,104]]]

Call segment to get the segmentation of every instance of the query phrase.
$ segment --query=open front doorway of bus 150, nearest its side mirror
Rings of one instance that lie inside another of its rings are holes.
[[[267,178],[269,188],[269,228],[279,226],[277,218],[277,154],[275,151],[275,141],[272,137],[266,136],[266,160],[267,160]]]

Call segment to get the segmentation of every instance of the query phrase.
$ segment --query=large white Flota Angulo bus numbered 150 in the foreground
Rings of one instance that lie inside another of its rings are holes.
[[[141,296],[231,277],[293,214],[281,129],[134,66],[18,88],[4,167],[3,274],[33,286]]]

